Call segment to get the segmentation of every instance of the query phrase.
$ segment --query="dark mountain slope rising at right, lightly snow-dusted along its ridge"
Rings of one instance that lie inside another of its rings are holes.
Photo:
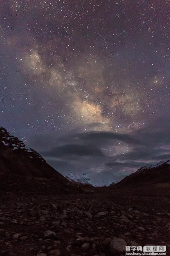
[[[111,188],[115,193],[170,196],[170,160],[141,167]]]

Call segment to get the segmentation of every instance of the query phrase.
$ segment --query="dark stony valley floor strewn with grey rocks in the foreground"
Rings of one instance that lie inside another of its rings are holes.
[[[112,193],[1,194],[0,256],[124,255],[129,245],[167,245],[169,198]]]

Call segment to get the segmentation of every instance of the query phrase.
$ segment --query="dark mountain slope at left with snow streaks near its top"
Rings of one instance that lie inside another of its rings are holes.
[[[57,190],[69,181],[36,151],[0,127],[1,190]]]

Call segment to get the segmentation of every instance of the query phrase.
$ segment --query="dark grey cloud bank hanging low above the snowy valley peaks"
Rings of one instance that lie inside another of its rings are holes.
[[[32,142],[41,148],[40,153],[47,162],[62,174],[70,170],[80,175],[85,172],[96,184],[101,179],[108,184],[120,181],[148,163],[155,164],[170,158],[169,131],[166,125],[163,128],[162,122],[154,128],[152,123],[131,133],[82,132],[80,126],[71,133],[36,134]],[[103,125],[94,122],[88,127],[102,128]],[[46,145],[49,148],[42,152]]]

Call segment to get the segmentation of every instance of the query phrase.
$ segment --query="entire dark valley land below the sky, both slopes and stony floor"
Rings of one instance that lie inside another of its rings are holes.
[[[0,128],[0,163],[0,256],[121,256],[157,244],[169,255],[169,161],[95,187]]]

